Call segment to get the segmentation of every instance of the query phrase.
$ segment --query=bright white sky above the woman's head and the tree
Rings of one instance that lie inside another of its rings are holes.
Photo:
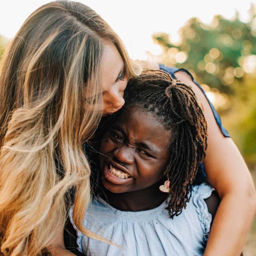
[[[1,1],[0,35],[12,38],[24,20],[38,7],[50,0]],[[79,0],[77,0],[79,1]],[[213,16],[221,14],[232,18],[235,11],[240,13],[242,22],[248,20],[248,9],[256,0],[129,0],[99,1],[80,0],[88,5],[117,32],[133,59],[146,59],[146,51],[160,54],[160,47],[153,44],[151,35],[154,32],[166,32],[172,38],[185,22],[194,16],[209,23]]]

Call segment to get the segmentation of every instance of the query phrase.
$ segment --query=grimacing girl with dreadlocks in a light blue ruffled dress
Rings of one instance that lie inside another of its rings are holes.
[[[79,250],[203,255],[212,222],[204,199],[212,187],[192,186],[207,148],[207,124],[192,89],[164,71],[145,71],[131,81],[124,108],[107,127],[99,146],[104,187],[84,227],[121,248],[78,231]]]

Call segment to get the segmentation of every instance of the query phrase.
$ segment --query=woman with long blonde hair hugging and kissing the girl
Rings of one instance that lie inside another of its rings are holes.
[[[57,244],[54,238],[63,232],[71,201],[66,192],[72,187],[75,225],[94,237],[82,228],[86,205],[81,200],[90,199],[90,168],[82,143],[90,139],[100,115],[122,107],[127,79],[139,72],[99,15],[67,1],[32,13],[1,65],[1,251],[36,255]],[[232,140],[220,132],[199,87],[182,70],[175,75],[192,86],[204,108],[209,127],[207,179],[222,198],[205,253],[224,255],[229,244],[225,255],[235,255],[254,216],[251,176]],[[239,210],[236,226],[226,210],[230,206]],[[71,254],[63,247],[54,253]]]

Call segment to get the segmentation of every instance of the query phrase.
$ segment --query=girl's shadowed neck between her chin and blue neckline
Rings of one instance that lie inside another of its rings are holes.
[[[101,197],[117,210],[132,212],[150,210],[161,205],[167,197],[166,193],[159,190],[162,184],[164,179],[151,187],[125,193],[112,193],[104,188]]]

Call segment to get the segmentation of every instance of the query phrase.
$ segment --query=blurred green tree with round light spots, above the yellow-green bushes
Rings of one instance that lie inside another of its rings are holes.
[[[214,16],[210,25],[191,18],[180,29],[180,42],[173,44],[172,35],[155,34],[154,40],[163,46],[162,61],[167,65],[184,67],[196,74],[199,83],[205,83],[221,92],[232,93],[234,80],[243,80],[245,72],[256,78],[256,13],[249,11],[250,22],[238,18],[226,20]],[[230,69],[229,69],[230,68]]]

